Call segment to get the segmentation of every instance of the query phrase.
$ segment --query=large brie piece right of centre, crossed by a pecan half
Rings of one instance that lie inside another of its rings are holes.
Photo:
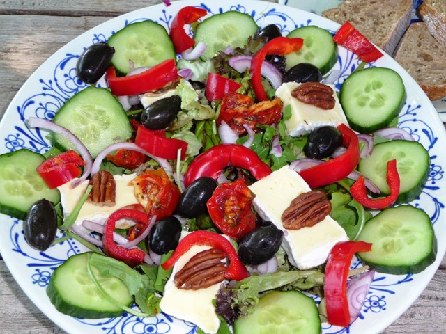
[[[289,261],[298,269],[309,269],[326,262],[330,250],[348,237],[343,228],[330,216],[312,227],[286,230],[282,214],[300,193],[310,191],[298,173],[284,166],[255,182],[249,189],[255,193],[254,207],[265,221],[271,221],[284,231],[282,246]]]

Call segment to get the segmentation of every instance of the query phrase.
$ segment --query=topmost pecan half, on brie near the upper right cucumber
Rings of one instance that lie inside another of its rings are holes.
[[[295,88],[291,96],[305,104],[312,104],[324,110],[333,109],[336,104],[332,88],[320,82],[305,82]]]

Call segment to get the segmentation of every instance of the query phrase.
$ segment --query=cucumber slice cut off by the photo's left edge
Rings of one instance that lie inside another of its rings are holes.
[[[46,198],[58,203],[61,195],[49,189],[36,168],[45,161],[43,155],[22,149],[0,155],[0,212],[24,219],[34,202]]]

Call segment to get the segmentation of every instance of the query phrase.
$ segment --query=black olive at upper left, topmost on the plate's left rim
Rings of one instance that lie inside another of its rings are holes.
[[[94,84],[109,68],[113,54],[114,48],[106,42],[90,45],[77,59],[77,78],[86,84]]]

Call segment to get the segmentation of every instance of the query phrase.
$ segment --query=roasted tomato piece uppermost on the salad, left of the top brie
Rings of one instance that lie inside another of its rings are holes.
[[[257,125],[271,125],[282,118],[282,102],[278,97],[254,104],[247,95],[228,93],[221,106],[217,124],[226,122],[239,136],[247,132],[244,124],[256,131],[259,130]]]

